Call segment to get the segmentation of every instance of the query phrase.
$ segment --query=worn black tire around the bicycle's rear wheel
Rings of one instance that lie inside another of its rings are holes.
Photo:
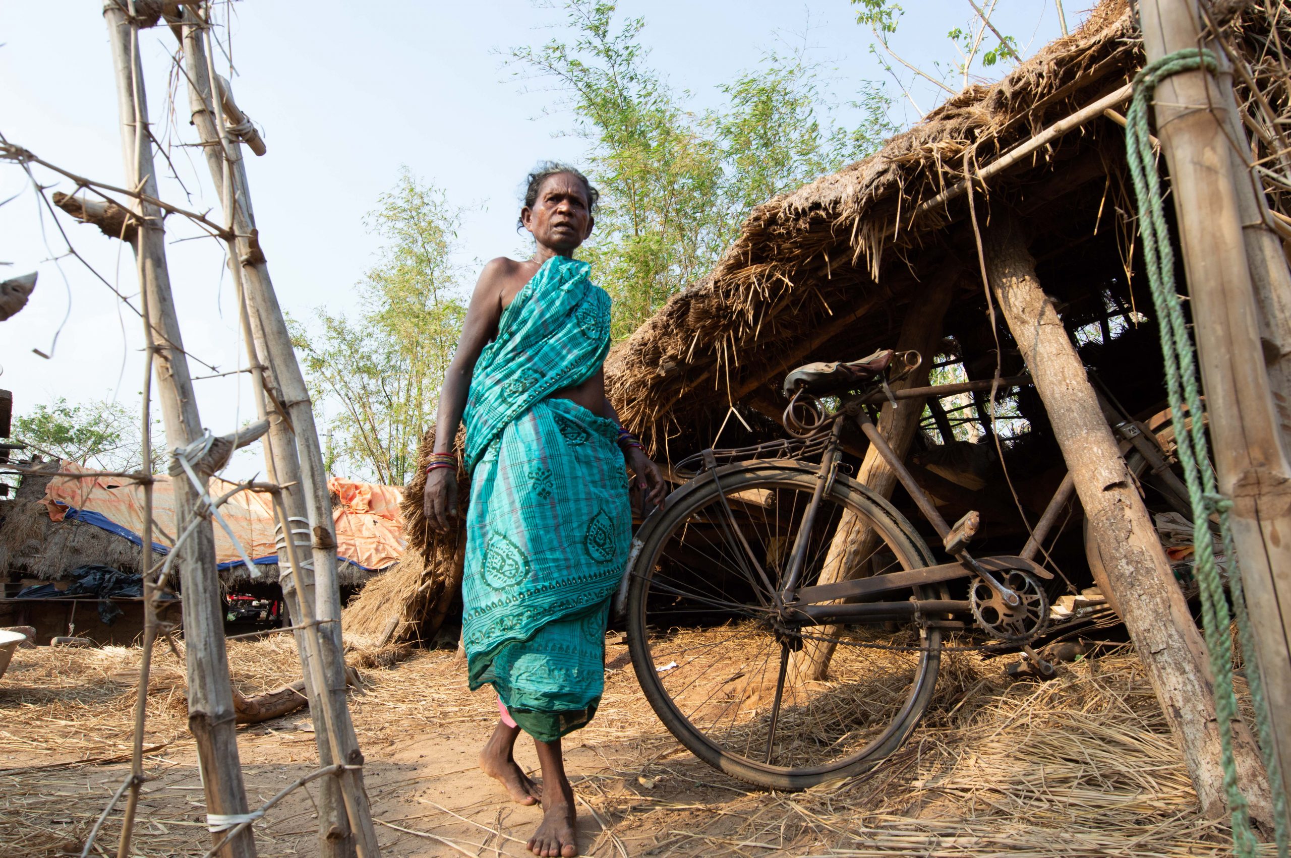
[[[724,466],[718,468],[715,475],[711,472],[701,475],[691,484],[678,489],[669,498],[665,508],[652,515],[651,520],[643,525],[627,569],[627,574],[630,575],[627,592],[627,640],[633,667],[642,690],[667,730],[686,748],[709,765],[749,783],[773,790],[803,790],[825,781],[862,774],[899,748],[927,711],[941,662],[940,630],[928,628],[922,632],[922,652],[913,655],[917,664],[908,693],[904,694],[901,706],[893,710],[893,715],[886,726],[878,735],[868,741],[864,747],[852,753],[844,753],[842,757],[826,764],[773,765],[755,760],[746,752],[736,752],[729,743],[718,741],[714,737],[714,730],[705,730],[702,726],[697,726],[692,717],[683,711],[683,706],[676,697],[665,686],[660,671],[661,666],[656,664],[655,650],[651,644],[651,609],[648,603],[651,600],[652,582],[655,581],[660,560],[664,557],[665,550],[670,541],[674,539],[678,529],[687,528],[688,523],[697,520],[696,516],[702,510],[714,507],[719,502],[718,479],[720,479],[722,490],[727,497],[751,490],[762,492],[772,488],[778,490],[778,486],[809,494],[816,486],[817,475],[816,466],[807,462],[780,461]],[[914,526],[886,499],[874,494],[864,485],[844,475],[838,475],[828,499],[864,516],[878,534],[882,546],[896,557],[901,568],[931,565],[932,552],[923,539],[919,538]],[[785,541],[790,539],[785,537]],[[871,556],[877,554],[878,550]],[[811,581],[804,579],[803,583],[811,583]],[[944,586],[930,587],[927,591],[936,594],[932,597],[945,597]],[[914,596],[920,599],[930,597],[922,590],[914,590]],[[900,600],[902,597],[897,596],[896,599]],[[875,623],[869,623],[866,630],[874,626]],[[664,634],[656,634],[656,639],[666,639],[671,632],[673,630],[669,628]],[[736,634],[738,632],[732,632],[732,636]],[[754,634],[750,632],[750,637]],[[835,652],[837,659],[838,653]],[[666,664],[662,667],[665,672],[674,670]],[[781,677],[781,681],[784,683],[785,680]],[[691,686],[688,685],[687,688]],[[824,701],[824,695],[817,699]],[[738,706],[736,704],[737,715]],[[835,706],[835,708],[838,707]],[[754,712],[757,713],[757,710]],[[693,716],[695,712],[691,712],[691,715]],[[735,716],[732,721],[735,721]],[[773,720],[772,724],[775,724]],[[772,726],[768,730],[768,759],[771,756],[769,746],[773,744],[776,737],[775,729]],[[749,728],[749,734],[753,734],[753,728]]]

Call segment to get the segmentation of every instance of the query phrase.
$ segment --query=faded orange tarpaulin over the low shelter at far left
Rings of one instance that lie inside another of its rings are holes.
[[[76,510],[74,517],[139,542],[143,489],[138,484],[96,476],[75,462],[63,462],[59,470],[85,476],[50,479],[41,503],[49,510],[52,520],[62,521],[70,510]],[[234,488],[235,483],[219,477],[210,477],[208,484],[212,497]],[[328,480],[328,489],[341,499],[341,504],[332,511],[337,555],[365,569],[383,569],[398,561],[404,551],[403,519],[399,515],[403,489],[340,477]],[[267,494],[238,492],[219,507],[219,515],[229,523],[248,557],[261,560],[276,556],[276,523]],[[152,484],[152,520],[154,543],[169,548],[176,524],[174,486],[168,476],[158,476]],[[223,528],[217,524],[214,534],[216,563],[221,566],[239,563],[238,548]]]

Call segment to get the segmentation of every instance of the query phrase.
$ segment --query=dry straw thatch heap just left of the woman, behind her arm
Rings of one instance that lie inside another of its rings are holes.
[[[457,446],[461,449],[462,435]],[[448,614],[462,583],[466,538],[461,523],[466,516],[470,479],[457,472],[457,521],[453,532],[440,535],[430,529],[422,508],[426,490],[426,462],[435,449],[431,427],[417,448],[417,467],[404,488],[403,520],[408,551],[391,569],[374,578],[345,609],[342,627],[371,645],[429,641]]]

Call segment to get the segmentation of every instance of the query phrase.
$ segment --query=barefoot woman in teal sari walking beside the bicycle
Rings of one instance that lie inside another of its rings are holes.
[[[595,201],[572,168],[529,175],[520,226],[537,250],[480,274],[426,479],[426,517],[447,532],[457,515],[452,441],[465,421],[462,643],[471,689],[492,685],[501,711],[480,768],[516,801],[544,805],[528,844],[537,855],[577,854],[560,737],[591,720],[604,686],[605,622],[631,538],[625,463],[651,502],[665,494],[605,399],[609,295],[573,259]],[[537,747],[541,790],[513,757],[522,729]]]

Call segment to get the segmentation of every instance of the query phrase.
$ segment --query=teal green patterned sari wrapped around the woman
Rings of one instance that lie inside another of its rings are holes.
[[[608,351],[609,295],[585,262],[549,259],[480,352],[463,418],[470,686],[493,685],[544,742],[596,711],[609,600],[631,539],[617,426],[549,397],[590,378]]]

